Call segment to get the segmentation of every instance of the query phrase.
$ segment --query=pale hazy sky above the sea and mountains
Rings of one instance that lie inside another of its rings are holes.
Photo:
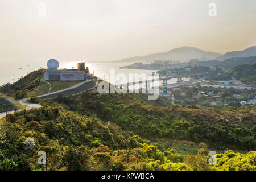
[[[119,60],[181,46],[240,51],[256,46],[255,22],[255,0],[0,0],[0,63]]]

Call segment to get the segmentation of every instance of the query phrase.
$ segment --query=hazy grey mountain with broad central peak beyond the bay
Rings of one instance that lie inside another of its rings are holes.
[[[205,59],[213,60],[216,57],[221,56],[219,53],[215,52],[205,52],[196,47],[180,47],[174,48],[171,51],[163,53],[154,53],[147,56],[135,56],[129,57],[127,59],[122,59],[119,61],[128,62],[128,61],[154,61],[154,60],[175,60],[175,61],[189,61],[190,59]]]

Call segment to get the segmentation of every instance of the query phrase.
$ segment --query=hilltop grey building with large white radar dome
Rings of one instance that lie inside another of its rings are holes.
[[[77,64],[79,69],[58,69],[59,62],[56,59],[50,59],[47,62],[47,71],[44,73],[46,81],[75,81],[85,80],[85,78],[93,79],[91,75],[84,71],[84,63]]]

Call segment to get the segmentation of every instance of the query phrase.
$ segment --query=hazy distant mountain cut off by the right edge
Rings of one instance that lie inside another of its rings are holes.
[[[225,59],[229,59],[232,57],[250,57],[250,56],[256,56],[256,46],[249,47],[244,51],[227,52],[225,53],[225,55],[219,56],[216,59],[223,61]]]

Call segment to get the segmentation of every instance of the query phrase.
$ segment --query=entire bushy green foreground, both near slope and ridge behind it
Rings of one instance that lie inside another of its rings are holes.
[[[256,170],[254,106],[211,110],[146,98],[95,90],[32,97],[40,109],[0,121],[0,170]],[[38,164],[39,151],[47,165]]]

